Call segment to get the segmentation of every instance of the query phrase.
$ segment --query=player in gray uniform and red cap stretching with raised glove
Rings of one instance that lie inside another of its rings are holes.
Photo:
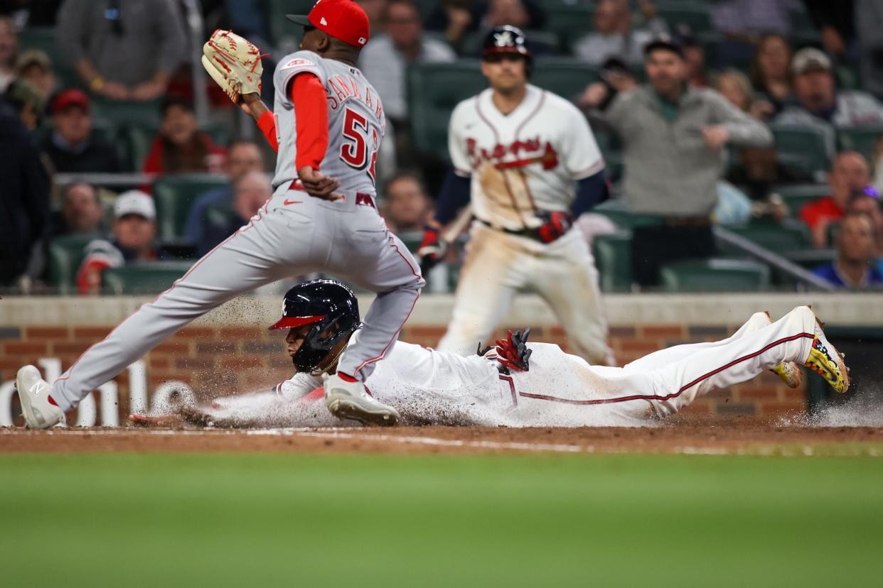
[[[302,50],[276,67],[274,113],[260,102],[257,48],[227,31],[215,31],[203,48],[212,78],[277,144],[273,197],[55,383],[44,382],[33,366],[21,368],[17,389],[28,427],[64,421],[64,412],[87,394],[224,301],[308,272],[334,273],[378,294],[365,328],[328,378],[328,409],[358,421],[396,423],[395,409],[367,395],[363,382],[393,346],[425,282],[374,204],[374,159],[385,119],[376,90],[356,68],[368,19],[351,0],[321,0],[308,16],[289,19],[305,26],[305,34]]]

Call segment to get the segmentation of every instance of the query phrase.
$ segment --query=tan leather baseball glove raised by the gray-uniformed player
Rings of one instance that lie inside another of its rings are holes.
[[[260,94],[260,49],[232,31],[212,33],[202,46],[202,66],[234,104],[243,94]]]

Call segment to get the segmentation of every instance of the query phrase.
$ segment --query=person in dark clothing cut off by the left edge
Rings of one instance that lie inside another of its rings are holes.
[[[0,95],[0,286],[26,272],[49,229],[49,171],[28,128],[41,104],[40,93],[22,80]]]

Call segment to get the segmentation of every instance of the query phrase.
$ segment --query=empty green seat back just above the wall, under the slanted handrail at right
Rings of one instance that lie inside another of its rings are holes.
[[[668,292],[757,292],[769,287],[770,270],[743,259],[694,259],[664,265],[660,277]]]

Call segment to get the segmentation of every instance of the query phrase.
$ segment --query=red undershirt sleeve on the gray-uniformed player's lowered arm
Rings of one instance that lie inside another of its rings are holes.
[[[325,87],[312,73],[301,73],[291,82],[291,103],[298,127],[295,168],[309,166],[318,170],[328,151]]]

